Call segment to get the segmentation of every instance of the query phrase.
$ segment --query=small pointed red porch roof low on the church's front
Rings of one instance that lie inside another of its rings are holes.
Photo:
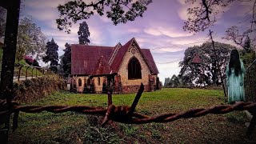
[[[98,59],[96,66],[91,75],[104,75],[104,74],[112,74],[112,70],[106,59],[102,56]]]

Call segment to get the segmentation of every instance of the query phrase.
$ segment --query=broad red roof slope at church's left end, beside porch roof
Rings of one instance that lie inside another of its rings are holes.
[[[93,73],[98,58],[108,61],[114,48],[110,46],[71,45],[71,74]]]

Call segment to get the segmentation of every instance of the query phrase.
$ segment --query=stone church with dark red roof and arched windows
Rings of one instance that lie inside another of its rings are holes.
[[[82,93],[114,94],[158,90],[158,68],[149,49],[135,38],[122,46],[71,45],[71,87]]]

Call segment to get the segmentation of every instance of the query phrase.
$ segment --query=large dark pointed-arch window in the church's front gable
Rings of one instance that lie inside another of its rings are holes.
[[[137,58],[131,58],[128,63],[128,79],[140,79],[142,78],[141,64]]]

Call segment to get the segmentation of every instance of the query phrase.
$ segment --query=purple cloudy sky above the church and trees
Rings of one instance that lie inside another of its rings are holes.
[[[58,4],[67,0],[24,0],[22,2],[22,17],[31,15],[34,22],[41,27],[42,33],[59,46],[59,56],[63,54],[65,43],[78,43],[79,22],[71,28],[71,34],[59,31],[55,23],[58,18]],[[218,14],[217,21],[210,30],[214,31],[214,41],[227,42],[222,37],[230,26],[240,29],[250,27],[252,2],[234,2],[225,8],[225,13]],[[201,45],[209,37],[209,30],[198,34],[190,34],[182,30],[186,22],[186,10],[189,6],[185,0],[153,0],[142,18],[134,22],[114,26],[106,17],[97,14],[86,20],[90,30],[90,45],[115,46],[118,42],[125,44],[135,38],[141,48],[150,49],[160,72],[164,78],[178,74],[178,62],[183,58],[184,51],[189,46]]]

